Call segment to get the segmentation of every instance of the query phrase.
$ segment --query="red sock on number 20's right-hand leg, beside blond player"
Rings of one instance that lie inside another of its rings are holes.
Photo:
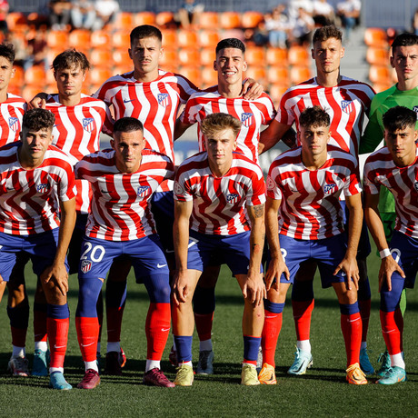
[[[146,315],[146,359],[161,360],[170,333],[170,304],[150,303]]]

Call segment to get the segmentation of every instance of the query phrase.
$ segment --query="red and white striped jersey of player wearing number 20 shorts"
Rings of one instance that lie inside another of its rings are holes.
[[[151,195],[158,184],[174,177],[174,165],[164,154],[144,149],[133,174],[121,173],[114,150],[85,156],[75,165],[75,176],[92,184],[93,199],[85,234],[107,241],[131,241],[156,234]]]

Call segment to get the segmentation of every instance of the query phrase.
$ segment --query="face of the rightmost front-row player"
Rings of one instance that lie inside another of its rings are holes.
[[[405,126],[403,129],[394,132],[384,131],[384,140],[395,163],[413,164],[417,138],[418,131],[415,130],[415,126]]]

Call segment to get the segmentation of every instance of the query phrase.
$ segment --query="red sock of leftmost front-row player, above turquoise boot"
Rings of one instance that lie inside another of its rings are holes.
[[[66,343],[70,318],[58,319],[48,317],[46,329],[49,339],[49,350],[51,352],[50,367],[64,367]]]

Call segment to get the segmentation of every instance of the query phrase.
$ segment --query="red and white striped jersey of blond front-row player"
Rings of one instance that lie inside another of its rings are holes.
[[[250,230],[245,204],[265,202],[261,168],[243,154],[234,153],[233,164],[222,177],[212,174],[207,153],[187,158],[178,167],[174,200],[193,200],[190,228],[201,234],[234,235]]]

